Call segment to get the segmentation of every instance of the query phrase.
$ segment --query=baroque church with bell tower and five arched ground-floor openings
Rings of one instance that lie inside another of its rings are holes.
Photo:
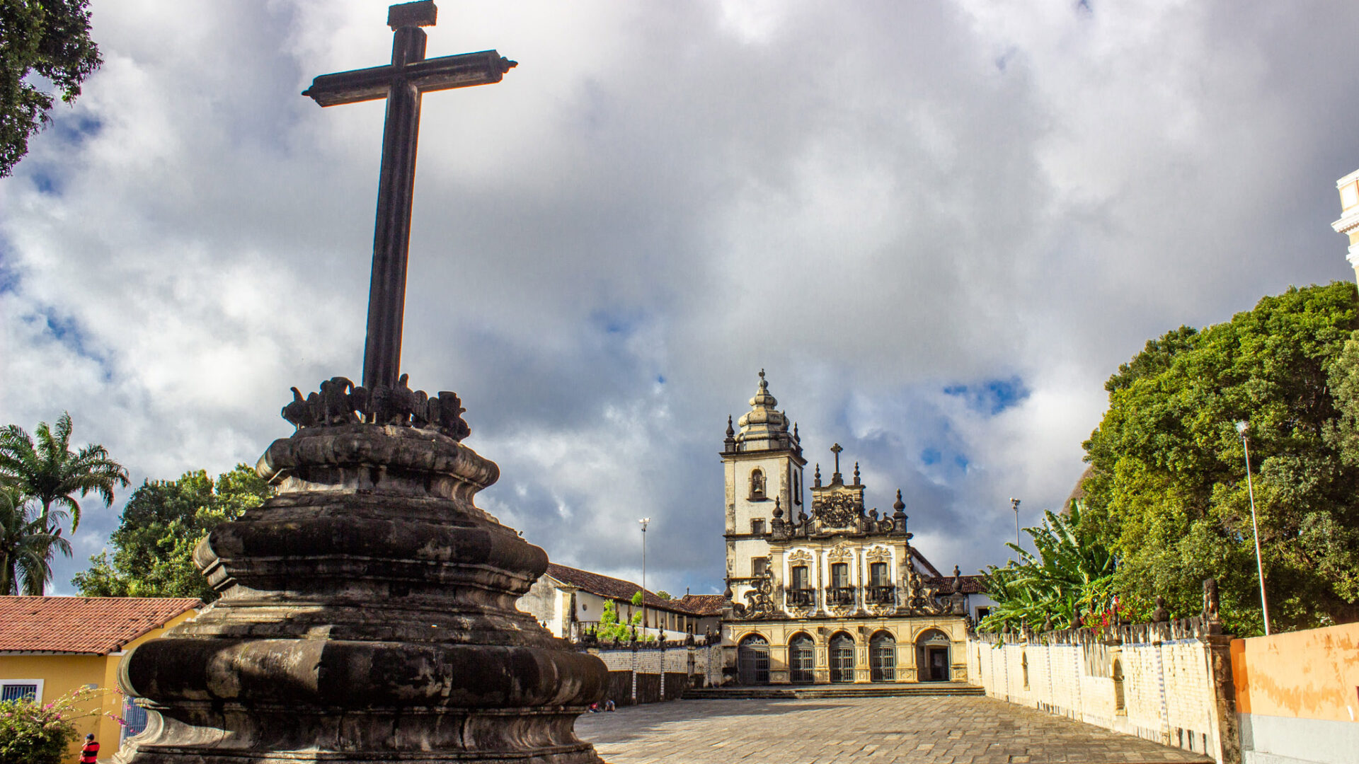
[[[722,450],[728,681],[966,681],[980,576],[940,575],[911,544],[901,491],[890,514],[867,510],[859,465],[847,481],[839,443],[829,481],[817,465],[806,485],[798,427],[776,406],[760,371]]]

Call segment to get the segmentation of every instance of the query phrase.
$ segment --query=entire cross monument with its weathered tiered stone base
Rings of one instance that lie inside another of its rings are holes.
[[[387,98],[364,385],[294,400],[257,472],[277,493],[194,551],[220,598],[130,651],[147,730],[118,764],[601,764],[575,719],[603,663],[515,601],[548,567],[474,504],[500,470],[457,394],[395,377],[420,94],[499,82],[497,53],[424,58],[432,1],[393,5],[393,63],[317,77],[322,106]]]

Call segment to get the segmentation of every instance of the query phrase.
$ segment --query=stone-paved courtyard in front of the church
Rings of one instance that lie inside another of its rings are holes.
[[[609,764],[1211,761],[991,697],[678,700],[576,722]]]

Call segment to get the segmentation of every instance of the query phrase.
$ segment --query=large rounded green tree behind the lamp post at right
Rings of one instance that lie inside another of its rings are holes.
[[[1356,329],[1354,284],[1290,288],[1229,322],[1181,326],[1118,368],[1084,443],[1079,529],[1118,557],[1116,591],[1190,616],[1216,578],[1227,628],[1263,631],[1234,427],[1246,420],[1273,625],[1359,620]]]

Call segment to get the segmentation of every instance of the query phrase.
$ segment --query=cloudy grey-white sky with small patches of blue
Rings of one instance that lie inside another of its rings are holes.
[[[94,0],[105,65],[0,179],[0,423],[63,411],[136,484],[253,464],[360,377],[386,3]],[[1003,561],[1143,343],[1352,279],[1352,3],[444,0],[404,368],[463,397],[480,504],[553,560],[720,591],[728,413],[901,487],[940,568]],[[57,593],[118,503],[86,504]]]

